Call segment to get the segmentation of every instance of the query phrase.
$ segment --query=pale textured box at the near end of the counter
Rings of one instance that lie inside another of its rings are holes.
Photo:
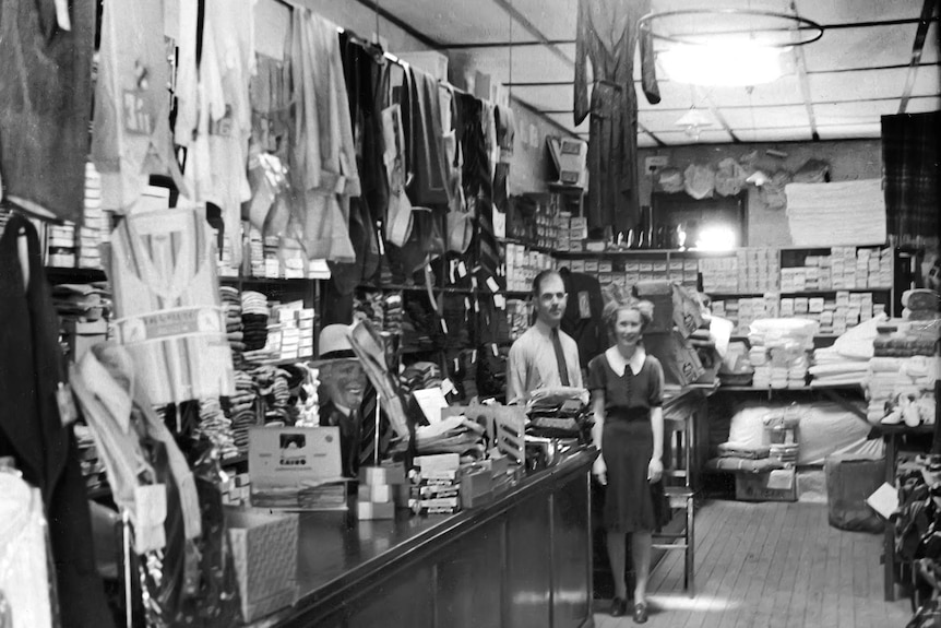
[[[297,597],[296,513],[225,509],[238,579],[242,620],[254,621],[294,605]]]

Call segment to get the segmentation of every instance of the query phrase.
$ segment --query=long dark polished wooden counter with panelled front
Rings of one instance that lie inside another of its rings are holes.
[[[580,451],[453,516],[303,514],[299,600],[257,626],[592,626],[596,455]]]

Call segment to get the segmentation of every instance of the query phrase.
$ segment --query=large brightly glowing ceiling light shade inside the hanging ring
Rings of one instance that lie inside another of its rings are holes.
[[[658,60],[671,81],[703,86],[750,86],[771,83],[783,74],[782,48],[748,42],[675,45]]]

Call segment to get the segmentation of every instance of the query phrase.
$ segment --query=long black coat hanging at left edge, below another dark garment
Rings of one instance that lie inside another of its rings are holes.
[[[28,248],[25,292],[21,232]],[[36,229],[14,214],[0,238],[0,355],[15,356],[15,368],[0,369],[0,457],[12,455],[23,478],[43,494],[62,626],[109,627],[85,482],[57,404],[57,382],[64,382],[58,329]]]

